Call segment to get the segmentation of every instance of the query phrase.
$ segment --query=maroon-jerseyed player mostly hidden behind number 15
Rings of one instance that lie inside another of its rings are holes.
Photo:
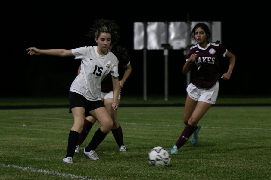
[[[132,72],[132,67],[130,64],[130,61],[128,59],[128,53],[127,49],[121,46],[117,46],[116,48],[110,47],[111,52],[113,52],[119,61],[119,69],[120,67],[124,68],[124,74],[123,78],[119,81],[120,82],[120,89],[123,87],[126,79],[129,77],[129,75]],[[81,66],[78,69],[78,74],[80,73]],[[122,128],[120,127],[119,122],[117,121],[117,110],[114,110],[112,108],[112,103],[113,103],[113,86],[112,86],[112,79],[110,76],[106,76],[103,81],[101,82],[101,98],[102,101],[104,102],[104,105],[111,115],[113,119],[113,127],[112,127],[112,134],[119,146],[119,151],[124,152],[127,151],[127,148],[124,146],[123,143],[123,133],[122,133]],[[120,103],[120,94],[119,94],[119,101]],[[86,136],[89,134],[90,129],[92,128],[93,124],[96,122],[96,119],[94,119],[92,116],[88,116],[85,119],[84,127],[83,130],[79,136],[79,140],[75,149],[75,152],[79,152],[79,148],[81,144],[84,142],[86,139]]]

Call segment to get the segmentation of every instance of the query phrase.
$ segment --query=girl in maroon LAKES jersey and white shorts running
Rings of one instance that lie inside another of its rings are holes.
[[[212,104],[215,104],[218,95],[220,57],[229,58],[228,71],[221,76],[223,80],[229,80],[235,64],[235,55],[222,44],[209,43],[211,32],[206,24],[196,24],[190,35],[198,44],[190,48],[182,69],[184,74],[192,71],[191,84],[186,89],[188,94],[183,114],[186,126],[173,145],[171,154],[177,154],[191,135],[192,145],[198,142],[198,132],[201,128],[198,122]]]

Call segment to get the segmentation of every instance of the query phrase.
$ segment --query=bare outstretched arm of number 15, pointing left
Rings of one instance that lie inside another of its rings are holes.
[[[30,55],[55,55],[55,56],[61,56],[61,57],[66,57],[66,56],[74,56],[71,50],[66,50],[66,49],[38,49],[36,47],[30,47],[26,49],[28,51],[27,54]]]

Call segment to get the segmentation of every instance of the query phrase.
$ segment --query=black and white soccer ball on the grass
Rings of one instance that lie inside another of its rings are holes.
[[[149,164],[153,166],[168,166],[170,160],[170,153],[162,146],[154,147],[148,153]]]

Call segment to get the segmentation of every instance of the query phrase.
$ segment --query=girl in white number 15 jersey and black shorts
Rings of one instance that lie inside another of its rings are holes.
[[[81,60],[81,71],[70,87],[70,112],[73,114],[74,123],[68,137],[67,154],[63,162],[73,163],[74,150],[79,135],[83,129],[85,116],[93,116],[101,127],[95,132],[91,142],[85,147],[83,154],[90,159],[99,159],[94,151],[111,131],[113,120],[101,101],[101,81],[107,74],[112,76],[113,84],[113,110],[118,109],[118,96],[120,84],[118,80],[118,60],[110,52],[110,44],[115,44],[118,35],[118,26],[114,21],[98,20],[92,26],[89,36],[94,36],[97,46],[81,47],[77,49],[48,49],[42,50],[30,47],[30,55],[56,55],[75,56]]]

